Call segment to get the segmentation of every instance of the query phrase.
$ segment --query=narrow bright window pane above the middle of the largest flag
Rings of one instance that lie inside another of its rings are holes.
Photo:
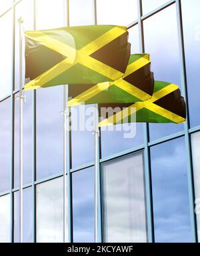
[[[93,0],[69,0],[69,22],[71,26],[93,25]]]

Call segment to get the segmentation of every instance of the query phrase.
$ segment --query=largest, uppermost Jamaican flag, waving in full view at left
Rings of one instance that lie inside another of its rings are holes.
[[[126,27],[90,25],[26,31],[25,89],[121,78],[130,57]]]

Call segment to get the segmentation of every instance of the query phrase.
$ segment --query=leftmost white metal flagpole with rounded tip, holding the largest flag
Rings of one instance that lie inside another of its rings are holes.
[[[22,23],[23,19],[18,19],[19,23],[19,243],[23,243],[23,77],[22,77]]]

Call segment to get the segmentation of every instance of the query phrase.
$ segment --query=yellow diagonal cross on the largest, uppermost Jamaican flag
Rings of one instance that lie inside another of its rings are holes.
[[[42,31],[25,32],[26,37],[29,39],[37,41],[37,43],[53,49],[53,51],[61,53],[63,56],[67,57],[67,59],[64,61],[61,61],[42,75],[39,75],[39,77],[36,77],[27,83],[27,85],[25,85],[25,90],[37,89],[38,87],[41,87],[77,63],[80,63],[85,67],[89,67],[89,69],[93,69],[94,71],[104,75],[105,77],[108,77],[111,80],[116,80],[119,77],[122,77],[123,73],[117,71],[117,69],[114,69],[113,67],[106,65],[105,63],[102,63],[101,61],[98,61],[97,59],[90,57],[89,55],[95,53],[95,51],[101,49],[101,47],[107,45],[107,43],[110,43],[126,32],[126,29],[123,27],[113,27],[113,29],[107,31],[79,50],[66,45],[65,43],[62,43],[61,41],[58,41],[57,39],[43,33]]]

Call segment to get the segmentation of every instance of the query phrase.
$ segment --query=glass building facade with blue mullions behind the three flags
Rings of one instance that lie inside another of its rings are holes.
[[[185,124],[137,123],[133,139],[101,130],[98,241],[200,241],[199,10],[199,0],[0,1],[0,242],[19,241],[20,16],[26,30],[126,25],[131,53],[150,53],[155,79],[181,87]],[[25,242],[63,241],[63,168],[67,240],[94,241],[95,136],[65,131],[66,88],[25,93]]]

